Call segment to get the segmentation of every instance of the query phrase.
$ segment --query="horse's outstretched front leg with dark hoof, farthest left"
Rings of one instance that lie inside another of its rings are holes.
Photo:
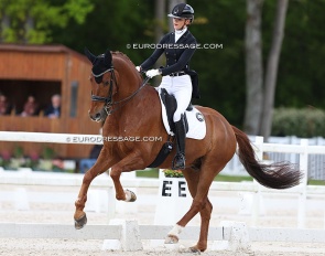
[[[87,201],[87,192],[91,181],[97,175],[107,171],[116,162],[113,159],[107,160],[107,158],[104,157],[106,153],[102,153],[102,152],[105,152],[105,150],[101,150],[94,167],[91,167],[84,175],[83,184],[79,190],[78,198],[75,202],[76,211],[75,211],[74,218],[75,218],[76,230],[83,228],[87,223],[87,217],[86,217],[86,213],[84,212],[84,209]]]

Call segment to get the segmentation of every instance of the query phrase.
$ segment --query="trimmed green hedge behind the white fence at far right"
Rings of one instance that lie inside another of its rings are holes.
[[[325,137],[325,111],[315,108],[275,109],[272,136]]]

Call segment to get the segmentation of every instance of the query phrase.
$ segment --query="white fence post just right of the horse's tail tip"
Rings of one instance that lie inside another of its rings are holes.
[[[297,227],[303,228],[305,227],[305,215],[306,215],[306,188],[308,181],[308,153],[307,153],[307,146],[308,140],[302,139],[301,146],[303,147],[303,153],[300,154],[300,169],[304,171],[304,177],[302,179],[302,190],[299,195],[299,211],[297,211]]]

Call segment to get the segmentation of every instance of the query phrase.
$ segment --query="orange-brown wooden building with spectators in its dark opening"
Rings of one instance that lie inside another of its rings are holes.
[[[91,64],[84,55],[63,45],[0,44],[0,93],[11,109],[0,116],[0,130],[98,135],[100,125],[88,117]],[[62,96],[59,118],[44,116],[54,94]],[[29,95],[39,103],[36,116],[20,113]],[[1,142],[0,152],[21,146],[24,154],[42,154],[50,147],[62,158],[87,158],[93,146],[37,142]]]

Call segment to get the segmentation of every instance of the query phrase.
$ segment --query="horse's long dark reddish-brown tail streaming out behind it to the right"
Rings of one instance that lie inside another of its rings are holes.
[[[294,169],[293,164],[286,162],[259,163],[247,135],[234,126],[232,129],[239,147],[237,154],[240,162],[261,185],[271,189],[288,189],[300,183],[303,174],[300,170]]]

